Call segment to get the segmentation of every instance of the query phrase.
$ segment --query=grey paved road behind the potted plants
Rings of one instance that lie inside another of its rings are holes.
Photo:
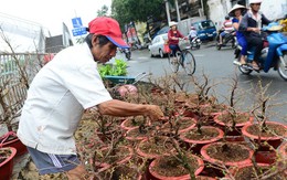
[[[268,110],[269,116],[272,120],[287,124],[287,82],[283,81],[277,72],[270,70],[269,73],[253,72],[248,76],[243,75],[237,66],[232,64],[234,60],[233,50],[226,47],[217,51],[212,42],[203,45],[200,50],[192,50],[192,52],[196,60],[194,76],[200,78],[204,73],[212,83],[217,84],[213,88],[213,93],[217,95],[221,102],[224,102],[228,97],[228,84],[236,74],[238,75],[238,93],[245,94],[245,97],[240,103],[241,108],[249,109],[254,106],[254,87],[257,87],[258,81],[262,81],[264,86],[270,83],[267,94],[274,95],[274,97],[269,100],[269,104],[279,103],[281,105],[270,107]],[[118,54],[117,57],[123,59],[124,56],[123,54]],[[132,51],[131,57],[131,61],[128,61],[128,71],[131,76],[147,72],[152,73],[152,77],[156,78],[171,73],[168,60],[150,57],[148,50]],[[182,78],[190,78],[190,76],[183,73],[181,75]]]

